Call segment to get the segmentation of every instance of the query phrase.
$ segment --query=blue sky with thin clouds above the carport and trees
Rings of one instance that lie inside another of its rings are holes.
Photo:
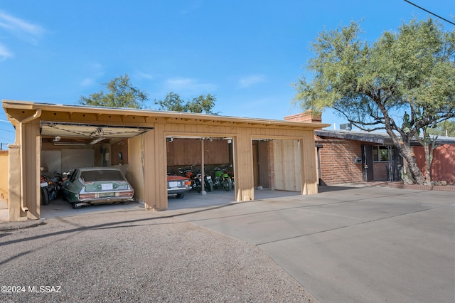
[[[455,16],[454,0],[412,2]],[[210,93],[220,115],[283,119],[300,112],[291,107],[291,84],[321,31],[363,20],[363,38],[375,41],[428,16],[403,0],[4,0],[0,98],[77,104],[128,74],[151,108],[168,92],[183,100]],[[344,121],[328,110],[323,122]],[[3,109],[0,142],[14,142]]]

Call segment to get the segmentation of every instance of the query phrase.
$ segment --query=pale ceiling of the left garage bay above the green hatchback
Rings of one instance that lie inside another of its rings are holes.
[[[86,139],[87,143],[98,138],[125,139],[144,134],[153,127],[123,127],[113,125],[41,122],[41,137],[54,139]],[[101,140],[100,140],[101,141]]]

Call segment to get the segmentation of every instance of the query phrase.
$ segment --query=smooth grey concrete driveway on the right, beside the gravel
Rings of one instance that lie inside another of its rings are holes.
[[[257,245],[321,302],[455,302],[455,193],[321,187],[166,211]]]

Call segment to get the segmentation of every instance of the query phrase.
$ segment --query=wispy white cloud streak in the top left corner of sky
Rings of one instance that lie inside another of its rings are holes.
[[[29,43],[36,44],[38,38],[44,33],[44,28],[38,24],[25,21],[21,18],[16,18],[4,11],[0,11],[0,28],[4,28]]]

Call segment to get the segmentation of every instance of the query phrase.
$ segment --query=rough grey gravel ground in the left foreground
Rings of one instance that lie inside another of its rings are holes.
[[[0,302],[317,302],[254,245],[175,217],[30,222],[0,224]]]

